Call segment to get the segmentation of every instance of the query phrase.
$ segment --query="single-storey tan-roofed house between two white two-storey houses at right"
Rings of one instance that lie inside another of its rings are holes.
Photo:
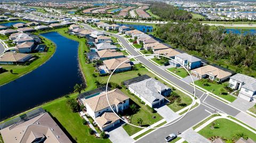
[[[212,65],[205,65],[201,68],[191,70],[191,75],[199,79],[207,78],[212,81],[222,82],[227,80],[232,73]]]

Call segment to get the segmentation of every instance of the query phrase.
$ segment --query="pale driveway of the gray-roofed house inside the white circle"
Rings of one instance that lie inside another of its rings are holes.
[[[179,114],[173,112],[167,105],[155,108],[155,110],[166,120],[166,122],[172,121],[179,116]]]

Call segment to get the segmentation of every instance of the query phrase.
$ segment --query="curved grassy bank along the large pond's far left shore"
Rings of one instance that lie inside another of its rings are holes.
[[[49,50],[45,53],[33,53],[33,55],[38,56],[38,58],[29,65],[1,65],[7,71],[0,74],[0,85],[4,85],[5,83],[18,79],[21,75],[35,70],[49,60],[49,58],[54,54],[56,47],[49,39],[42,38],[42,41],[47,45],[47,47],[49,47]],[[10,70],[13,70],[13,73],[11,73]]]

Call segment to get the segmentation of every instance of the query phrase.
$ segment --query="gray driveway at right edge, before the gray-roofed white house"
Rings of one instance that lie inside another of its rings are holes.
[[[229,105],[238,108],[239,110],[245,111],[254,106],[255,103],[248,102],[242,98],[237,97],[236,100],[234,100],[233,103],[230,103]]]

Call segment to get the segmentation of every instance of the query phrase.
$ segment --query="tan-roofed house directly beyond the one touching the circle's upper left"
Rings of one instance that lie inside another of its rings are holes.
[[[97,52],[100,60],[109,60],[111,58],[120,58],[120,57],[124,57],[124,54],[122,52],[116,52],[113,49],[103,49],[101,51]]]

